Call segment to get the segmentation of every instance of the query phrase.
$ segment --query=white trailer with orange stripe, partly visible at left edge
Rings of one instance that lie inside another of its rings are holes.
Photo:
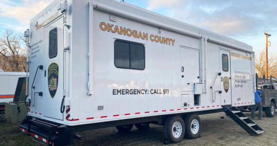
[[[18,77],[24,77],[23,72],[0,72],[0,110],[5,109],[5,103],[13,101]]]

